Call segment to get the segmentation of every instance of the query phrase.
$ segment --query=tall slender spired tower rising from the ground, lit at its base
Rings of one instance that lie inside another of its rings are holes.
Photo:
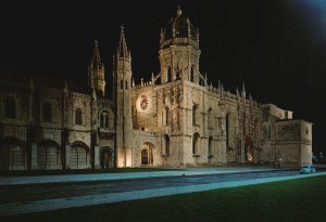
[[[113,55],[113,95],[115,104],[115,167],[131,167],[131,55],[127,49],[124,26]]]

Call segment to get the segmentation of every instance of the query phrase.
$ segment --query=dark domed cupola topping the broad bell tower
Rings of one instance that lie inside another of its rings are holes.
[[[199,31],[190,23],[188,17],[183,15],[180,6],[176,11],[175,17],[172,17],[164,29],[161,29],[160,44],[161,49],[168,45],[192,44],[198,48]]]

